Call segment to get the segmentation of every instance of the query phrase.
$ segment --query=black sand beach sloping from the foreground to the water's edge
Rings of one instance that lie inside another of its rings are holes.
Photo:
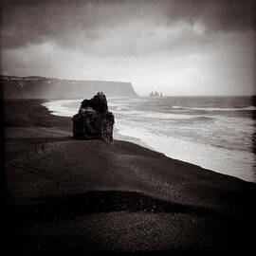
[[[41,102],[5,101],[9,251],[255,250],[255,184],[130,142],[75,140]]]

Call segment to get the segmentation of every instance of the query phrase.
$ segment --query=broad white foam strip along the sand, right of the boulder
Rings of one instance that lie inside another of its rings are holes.
[[[145,127],[138,127],[135,123],[127,126],[117,125],[122,136],[136,137],[157,152],[163,153],[174,159],[190,162],[212,171],[240,177],[247,181],[253,181],[255,176],[252,167],[255,155],[212,147],[207,144],[193,143],[189,140],[176,137],[166,137],[163,134],[154,133]],[[133,140],[131,140],[133,142]],[[139,142],[138,142],[139,143]]]

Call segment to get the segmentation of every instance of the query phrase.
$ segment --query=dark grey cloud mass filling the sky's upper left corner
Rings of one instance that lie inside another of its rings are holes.
[[[15,48],[58,38],[68,40],[82,27],[91,27],[84,7],[60,1],[11,1],[2,6],[2,46]],[[82,9],[81,9],[82,8]]]

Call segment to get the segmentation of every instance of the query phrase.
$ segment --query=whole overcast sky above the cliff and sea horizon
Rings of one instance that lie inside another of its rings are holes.
[[[255,94],[254,0],[1,0],[1,73]]]

